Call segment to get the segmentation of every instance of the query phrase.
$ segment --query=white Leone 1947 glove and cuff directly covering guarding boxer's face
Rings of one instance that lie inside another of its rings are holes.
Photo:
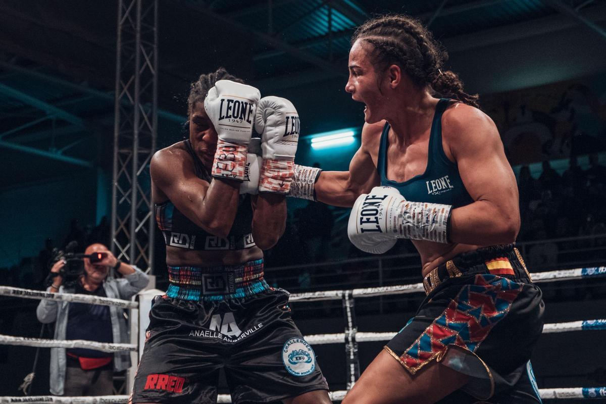
[[[255,87],[229,80],[219,80],[208,90],[204,110],[219,137],[211,170],[214,177],[244,180],[259,98],[261,93]]]

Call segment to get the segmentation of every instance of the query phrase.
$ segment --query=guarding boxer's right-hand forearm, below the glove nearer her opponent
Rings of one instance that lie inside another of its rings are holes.
[[[286,198],[281,194],[262,192],[252,196],[253,239],[261,250],[276,245],[286,227]]]

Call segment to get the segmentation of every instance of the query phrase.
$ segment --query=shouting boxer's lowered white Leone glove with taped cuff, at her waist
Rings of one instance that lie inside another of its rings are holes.
[[[451,205],[410,202],[396,188],[375,187],[356,199],[347,235],[362,251],[383,254],[396,239],[448,242]]]

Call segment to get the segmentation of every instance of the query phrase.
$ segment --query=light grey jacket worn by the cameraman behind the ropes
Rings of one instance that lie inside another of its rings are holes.
[[[105,279],[103,287],[107,297],[128,300],[141,291],[149,282],[148,276],[139,268],[135,267],[135,273],[126,275],[120,279]],[[50,286],[47,291],[50,291]],[[60,293],[73,293],[72,290],[59,286]],[[67,328],[67,316],[69,302],[58,302],[56,300],[41,300],[36,309],[36,316],[42,323],[55,322],[55,339],[64,340]],[[113,342],[130,343],[128,337],[128,324],[124,318],[124,309],[110,306],[110,317],[112,320]],[[62,396],[65,385],[65,348],[50,348],[50,392],[55,396]],[[130,366],[130,354],[128,351],[116,352],[114,354],[114,369],[121,371]]]

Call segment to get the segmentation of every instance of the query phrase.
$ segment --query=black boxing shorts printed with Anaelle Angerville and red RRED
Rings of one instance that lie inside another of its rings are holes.
[[[221,368],[236,404],[328,389],[291,319],[287,291],[209,301],[157,296],[132,402],[214,404]]]

